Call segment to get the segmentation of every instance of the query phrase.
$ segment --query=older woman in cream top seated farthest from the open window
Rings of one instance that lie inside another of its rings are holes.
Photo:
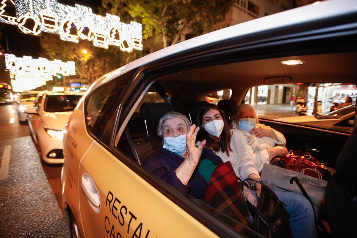
[[[287,155],[284,135],[270,126],[258,123],[257,112],[251,105],[245,103],[239,105],[232,124],[259,173],[265,163],[270,163],[277,156]]]

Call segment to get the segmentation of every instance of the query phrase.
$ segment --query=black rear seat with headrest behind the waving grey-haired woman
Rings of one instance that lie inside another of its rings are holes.
[[[143,103],[140,107],[140,117],[144,119],[147,135],[143,138],[130,141],[131,156],[137,159],[137,162],[142,165],[149,155],[162,147],[162,140],[156,134],[156,128],[159,125],[160,118],[165,113],[174,111],[170,103]]]

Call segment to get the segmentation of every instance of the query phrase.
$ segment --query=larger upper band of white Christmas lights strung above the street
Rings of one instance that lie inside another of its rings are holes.
[[[142,50],[141,24],[134,21],[126,24],[111,14],[96,15],[90,7],[79,4],[68,6],[57,0],[2,0],[0,22],[17,25],[25,34],[38,36],[49,32],[60,35],[64,41],[88,40],[105,49],[113,45],[124,52]]]

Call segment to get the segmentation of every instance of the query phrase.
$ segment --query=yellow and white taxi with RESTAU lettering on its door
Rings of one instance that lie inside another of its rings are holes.
[[[257,85],[356,84],[356,24],[356,1],[323,1],[197,36],[97,79],[64,132],[61,180],[71,236],[246,237],[246,227],[236,230],[141,166],[162,146],[160,116],[167,110],[191,116],[208,103],[198,98],[218,90],[231,89],[239,105]],[[351,135],[263,122],[282,132],[288,147],[313,148],[331,167]]]

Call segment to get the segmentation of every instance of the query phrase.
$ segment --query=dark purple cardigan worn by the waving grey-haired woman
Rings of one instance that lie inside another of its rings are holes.
[[[222,159],[207,148],[203,148],[201,158],[207,158],[215,164],[222,163]],[[193,171],[187,185],[182,184],[180,179],[177,178],[176,168],[178,168],[182,162],[182,157],[160,148],[146,159],[143,166],[156,177],[174,186],[178,190],[188,193],[197,199],[203,199],[207,182],[201,174],[197,172],[197,169]]]

